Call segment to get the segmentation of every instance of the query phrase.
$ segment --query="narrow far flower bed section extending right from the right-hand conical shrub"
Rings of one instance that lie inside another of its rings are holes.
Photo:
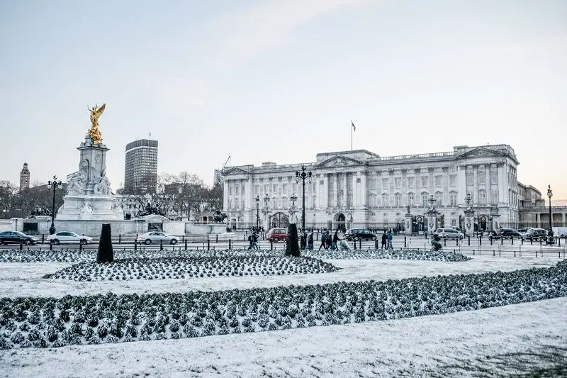
[[[428,260],[428,261],[468,261],[471,257],[459,253],[433,250],[313,250],[302,251],[304,256],[319,259],[395,259],[395,260]]]

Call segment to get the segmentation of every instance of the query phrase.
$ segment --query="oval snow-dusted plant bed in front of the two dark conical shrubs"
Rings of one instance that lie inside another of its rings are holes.
[[[284,255],[214,255],[189,257],[134,257],[106,264],[79,262],[52,278],[74,281],[170,279],[191,277],[280,276],[335,272],[337,267],[313,257]]]

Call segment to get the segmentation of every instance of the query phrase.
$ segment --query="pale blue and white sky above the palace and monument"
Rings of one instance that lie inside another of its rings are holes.
[[[506,143],[567,199],[567,1],[0,0],[0,179],[78,169],[87,105],[114,189],[124,148],[159,172]]]

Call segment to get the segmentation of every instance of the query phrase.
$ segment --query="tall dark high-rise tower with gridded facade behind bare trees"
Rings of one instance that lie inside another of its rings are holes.
[[[155,192],[157,140],[140,139],[128,143],[124,168],[124,194]]]

